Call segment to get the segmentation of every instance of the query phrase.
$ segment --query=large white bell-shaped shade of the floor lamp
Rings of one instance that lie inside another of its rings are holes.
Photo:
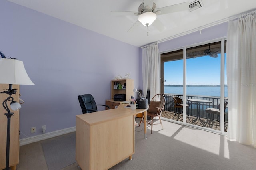
[[[0,84],[34,85],[23,62],[7,58],[0,59]]]

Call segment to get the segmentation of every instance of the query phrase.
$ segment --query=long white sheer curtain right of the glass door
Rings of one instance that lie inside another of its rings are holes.
[[[228,139],[256,147],[256,11],[228,24]]]

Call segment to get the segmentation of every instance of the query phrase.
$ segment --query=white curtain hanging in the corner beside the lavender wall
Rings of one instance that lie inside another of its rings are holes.
[[[150,99],[160,93],[160,71],[158,45],[148,45],[142,49],[143,96],[150,91]]]

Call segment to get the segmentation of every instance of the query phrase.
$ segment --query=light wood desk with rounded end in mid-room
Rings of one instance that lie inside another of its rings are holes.
[[[82,170],[111,168],[134,154],[134,116],[147,109],[117,109],[76,115],[76,161]],[[144,133],[146,138],[146,123]]]

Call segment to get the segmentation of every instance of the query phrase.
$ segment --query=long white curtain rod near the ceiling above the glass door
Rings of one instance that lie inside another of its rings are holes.
[[[254,9],[254,10],[256,10],[256,9]],[[249,11],[246,11],[246,12],[243,12],[243,13],[240,13],[240,14],[237,14],[237,15],[234,15],[234,16],[230,16],[230,17],[228,17],[228,18],[224,18],[224,19],[222,19],[222,20],[218,20],[218,21],[216,21],[216,22],[212,22],[212,23],[210,23],[210,24],[206,24],[206,25],[204,25],[204,26],[200,26],[200,27],[198,27],[198,28],[194,28],[194,29],[189,30],[189,31],[186,31],[186,32],[182,32],[182,33],[180,33],[180,34],[176,34],[176,35],[174,35],[174,36],[170,36],[170,37],[168,37],[168,38],[164,38],[164,39],[162,39],[162,40],[158,40],[158,41],[155,42],[155,43],[161,43],[161,42],[165,42],[165,41],[168,41],[168,40],[172,40],[172,39],[174,39],[174,38],[178,38],[178,37],[180,37],[180,36],[184,36],[184,35],[186,35],[186,34],[190,34],[190,33],[192,33],[192,32],[196,32],[196,31],[199,31],[199,32],[201,33],[201,30],[202,30],[202,29],[206,29],[206,28],[215,26],[215,25],[217,25],[217,24],[222,24],[222,23],[227,22],[227,21],[229,21],[229,20],[238,19],[238,17],[239,17],[240,15],[246,14],[246,13],[248,13],[248,12],[252,12],[252,11],[254,11],[254,10],[249,10]],[[153,44],[154,44],[154,43],[153,43]],[[152,44],[149,44],[149,45],[152,45]],[[145,45],[145,46],[142,46],[142,47],[140,47],[140,48],[144,48],[144,47],[147,47],[147,46],[149,46],[149,45]]]

